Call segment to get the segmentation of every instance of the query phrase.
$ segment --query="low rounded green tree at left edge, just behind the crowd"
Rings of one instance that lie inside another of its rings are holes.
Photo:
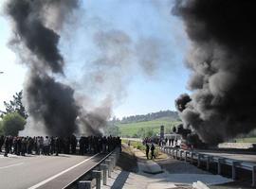
[[[18,112],[9,112],[3,116],[2,129],[5,135],[17,136],[24,129],[26,120]]]

